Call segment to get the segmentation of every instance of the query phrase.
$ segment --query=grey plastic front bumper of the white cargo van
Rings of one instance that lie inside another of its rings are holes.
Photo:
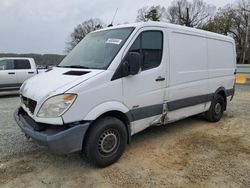
[[[40,145],[46,146],[53,153],[66,154],[82,150],[83,139],[90,122],[75,126],[39,125],[22,108],[14,113],[14,119],[21,130]],[[44,128],[37,129],[37,127]]]

